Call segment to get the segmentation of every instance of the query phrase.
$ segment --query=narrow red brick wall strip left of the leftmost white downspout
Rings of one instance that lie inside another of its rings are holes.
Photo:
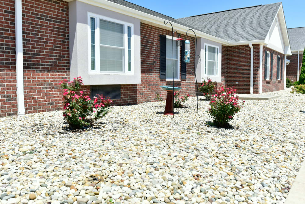
[[[0,117],[17,115],[15,1],[0,1]]]

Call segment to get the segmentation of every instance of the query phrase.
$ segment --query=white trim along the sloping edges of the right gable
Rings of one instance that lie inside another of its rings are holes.
[[[272,21],[272,23],[271,23],[271,25],[270,25],[269,31],[268,31],[268,33],[267,33],[267,35],[266,35],[266,38],[265,38],[264,42],[265,42],[266,44],[269,43],[269,39],[267,39],[267,38],[268,38],[269,33],[270,33],[270,31],[271,31],[272,24],[273,24],[273,22],[275,21],[275,18],[277,17],[279,11],[281,11],[280,14],[282,15],[282,18],[283,18],[283,21],[284,21],[284,22],[283,22],[282,20],[280,20],[280,21],[281,21],[282,33],[283,33],[284,38],[285,38],[285,39],[284,39],[284,42],[285,42],[285,45],[286,45],[283,54],[291,55],[292,53],[291,53],[290,42],[289,42],[289,36],[288,36],[288,31],[287,31],[286,20],[285,20],[285,15],[284,15],[284,10],[283,10],[283,5],[282,5],[282,3],[281,3],[281,5],[280,5],[280,7],[278,8],[278,12],[276,12],[276,14],[275,14],[275,16],[274,16],[274,19],[273,19],[273,21]],[[280,14],[279,14],[279,15],[280,15]]]

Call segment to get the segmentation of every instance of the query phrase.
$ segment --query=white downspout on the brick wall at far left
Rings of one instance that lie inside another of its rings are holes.
[[[25,113],[23,90],[22,3],[15,0],[16,88],[18,116]]]

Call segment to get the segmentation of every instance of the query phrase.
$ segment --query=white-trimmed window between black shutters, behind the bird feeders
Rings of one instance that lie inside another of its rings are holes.
[[[177,41],[174,39],[174,56],[172,37],[166,38],[166,79],[173,79],[173,58],[174,58],[174,79],[179,79],[179,52]]]

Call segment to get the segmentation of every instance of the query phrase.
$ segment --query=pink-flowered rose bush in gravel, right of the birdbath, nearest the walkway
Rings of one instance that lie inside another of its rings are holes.
[[[228,128],[233,116],[240,111],[244,100],[239,104],[236,90],[233,88],[220,87],[215,95],[212,95],[210,107],[208,108],[213,123],[219,127]]]

